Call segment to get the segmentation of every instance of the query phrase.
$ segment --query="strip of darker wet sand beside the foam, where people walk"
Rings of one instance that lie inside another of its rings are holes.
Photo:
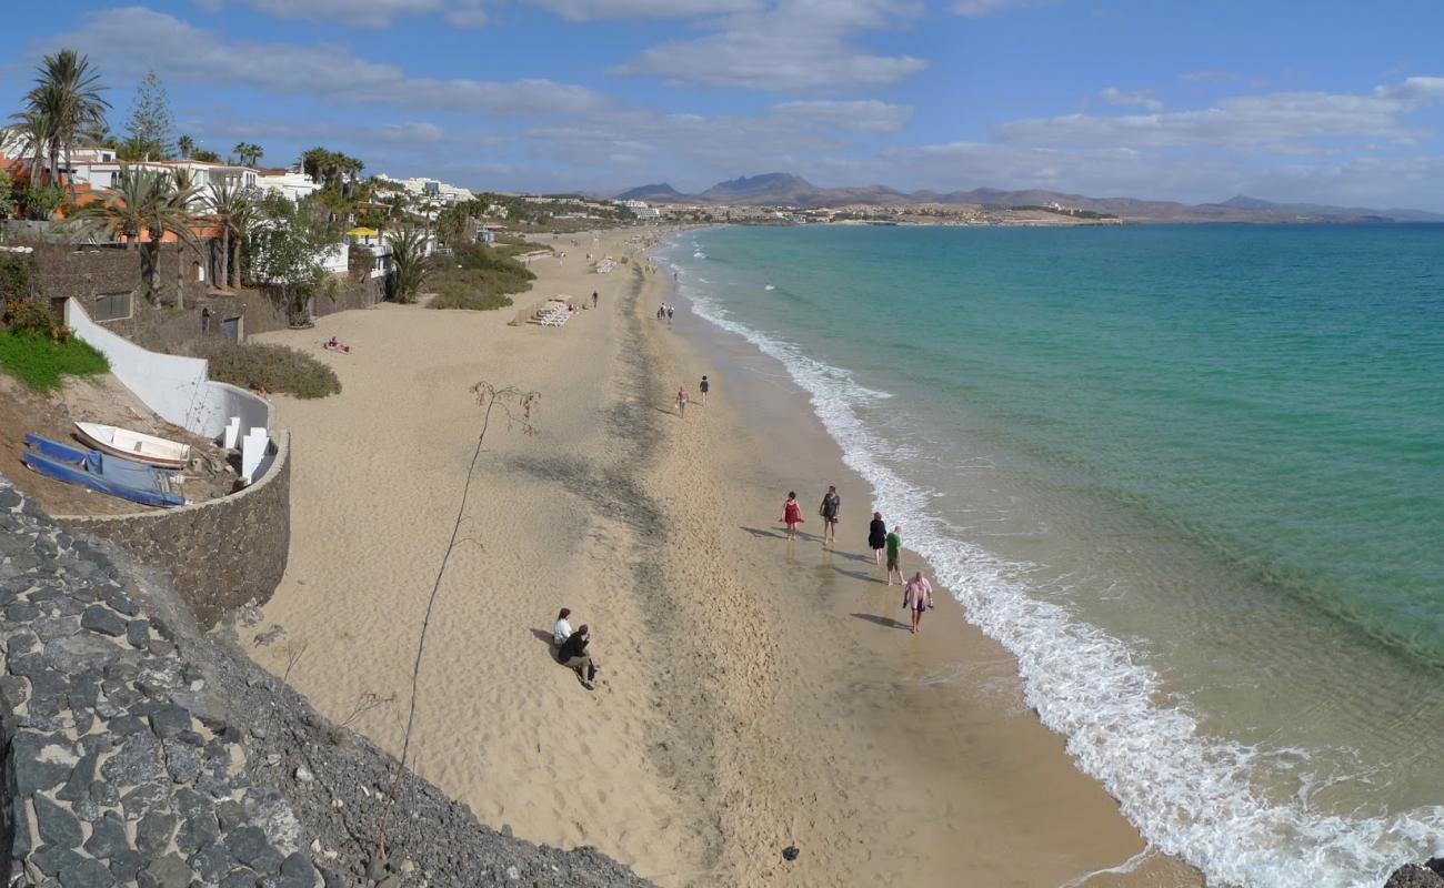
[[[669,292],[667,300],[673,299],[679,296]],[[1144,846],[1136,830],[1118,810],[1116,800],[1074,767],[1073,758],[1063,749],[1066,738],[1044,728],[1037,713],[1027,706],[1014,656],[967,622],[963,608],[936,582],[937,609],[924,618],[924,632],[918,638],[908,637],[905,612],[894,601],[901,596],[901,589],[888,589],[877,582],[874,575],[881,572],[872,566],[871,553],[864,552],[861,544],[866,513],[861,517],[858,513],[864,508],[871,511],[871,505],[859,505],[868,501],[869,485],[843,463],[838,442],[823,429],[810,409],[807,393],[787,377],[786,368],[761,354],[751,342],[690,312],[679,313],[674,326],[676,329],[660,325],[654,328],[660,347],[670,352],[673,361],[695,370],[692,380],[699,373],[712,375],[713,391],[722,394],[722,399],[721,403],[709,400],[706,410],[710,413],[712,404],[722,407],[722,436],[729,440],[731,449],[736,450],[738,442],[749,445],[736,455],[739,459],[734,471],[738,476],[732,481],[752,488],[754,495],[761,494],[758,508],[780,510],[783,494],[788,488],[799,489],[799,498],[804,501],[809,497],[816,500],[827,484],[836,484],[843,494],[845,515],[851,504],[851,521],[845,518],[839,527],[836,554],[822,553],[812,539],[817,527],[810,523],[803,524],[804,539],[796,547],[780,540],[781,531],[775,523],[771,523],[771,533],[765,531],[767,523],[761,521],[754,521],[758,527],[742,530],[751,536],[751,544],[761,541],[771,549],[771,556],[777,554],[773,547],[781,547],[781,557],[794,570],[812,566],[813,570],[832,572],[833,576],[816,582],[816,589],[788,619],[806,624],[816,621],[822,612],[827,618],[827,628],[836,632],[835,641],[843,641],[849,651],[866,651],[885,664],[881,670],[885,677],[878,683],[881,687],[866,689],[851,683],[835,689],[835,693],[856,696],[864,690],[885,687],[887,693],[878,695],[884,700],[859,700],[848,715],[859,718],[869,709],[887,712],[879,719],[882,723],[869,725],[871,732],[885,739],[891,749],[904,749],[917,761],[927,762],[926,781],[931,785],[910,787],[910,813],[917,813],[920,798],[928,798],[937,810],[947,811],[944,816],[957,817],[950,798],[978,796],[979,790],[985,790],[996,806],[979,822],[959,819],[954,823],[960,827],[959,835],[940,836],[943,842],[967,842],[969,837],[988,835],[988,842],[973,845],[969,853],[953,861],[924,861],[910,871],[878,874],[881,882],[905,878],[917,884],[957,884],[944,874],[962,868],[989,874],[978,884],[1154,885],[1167,879],[1165,884],[1173,885],[1201,885],[1201,875],[1196,871]],[[719,367],[721,386],[716,375]],[[748,381],[739,387],[739,380]],[[738,401],[745,403],[745,414],[736,409]],[[690,410],[687,419],[692,420]],[[787,440],[788,446],[761,443],[775,440]],[[784,476],[790,479],[788,484],[783,484]],[[799,478],[807,482],[797,481]],[[804,502],[804,517],[810,513],[807,505]],[[754,518],[764,515],[771,517],[765,511],[752,514]],[[767,537],[777,537],[777,541]],[[814,556],[816,562],[809,560],[813,550],[820,553]],[[777,567],[762,553],[754,553],[749,560],[758,573]],[[926,565],[926,560],[904,547],[904,566],[908,565]],[[930,567],[924,569],[936,576]],[[786,572],[777,570],[777,582],[783,582],[783,573]],[[894,634],[890,628],[901,628],[904,632],[890,638]],[[923,650],[910,650],[910,643],[920,643]],[[800,634],[791,648],[801,650],[807,645],[809,640]],[[872,669],[871,663],[861,666]],[[887,723],[894,718],[913,719],[911,729],[900,731],[897,723]],[[965,738],[963,742],[959,738]],[[864,745],[871,749],[874,742],[869,738]],[[979,758],[986,764],[979,764]],[[877,759],[868,761],[859,770],[877,768],[879,764]],[[959,772],[962,778],[956,783],[943,777],[957,777]],[[900,778],[892,775],[892,780]],[[939,783],[943,785],[936,785]],[[1030,797],[1034,790],[1041,790],[1040,797]],[[1032,804],[1037,807],[1030,807]],[[998,809],[1008,810],[1005,817],[1011,820],[998,823]],[[933,814],[924,814],[927,816]],[[1087,826],[1079,829],[1083,823]],[[872,824],[872,829],[885,833],[890,824]],[[1080,835],[1089,829],[1096,832]],[[1027,848],[1001,850],[1009,839],[1024,835],[1031,837]],[[902,845],[914,839],[900,836],[897,840]],[[980,846],[993,850],[978,853]],[[1047,861],[1050,855],[1054,855],[1053,861]],[[1031,866],[1018,863],[1025,856],[1034,858]],[[1074,869],[1064,872],[1067,866]],[[849,872],[856,875],[856,869]]]

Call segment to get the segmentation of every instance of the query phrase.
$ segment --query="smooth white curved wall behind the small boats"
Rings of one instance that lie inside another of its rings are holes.
[[[219,438],[232,416],[241,417],[243,430],[270,429],[270,404],[244,388],[211,381],[201,358],[146,351],[91,321],[74,299],[65,300],[65,323],[101,351],[116,378],[160,419],[205,438]]]

